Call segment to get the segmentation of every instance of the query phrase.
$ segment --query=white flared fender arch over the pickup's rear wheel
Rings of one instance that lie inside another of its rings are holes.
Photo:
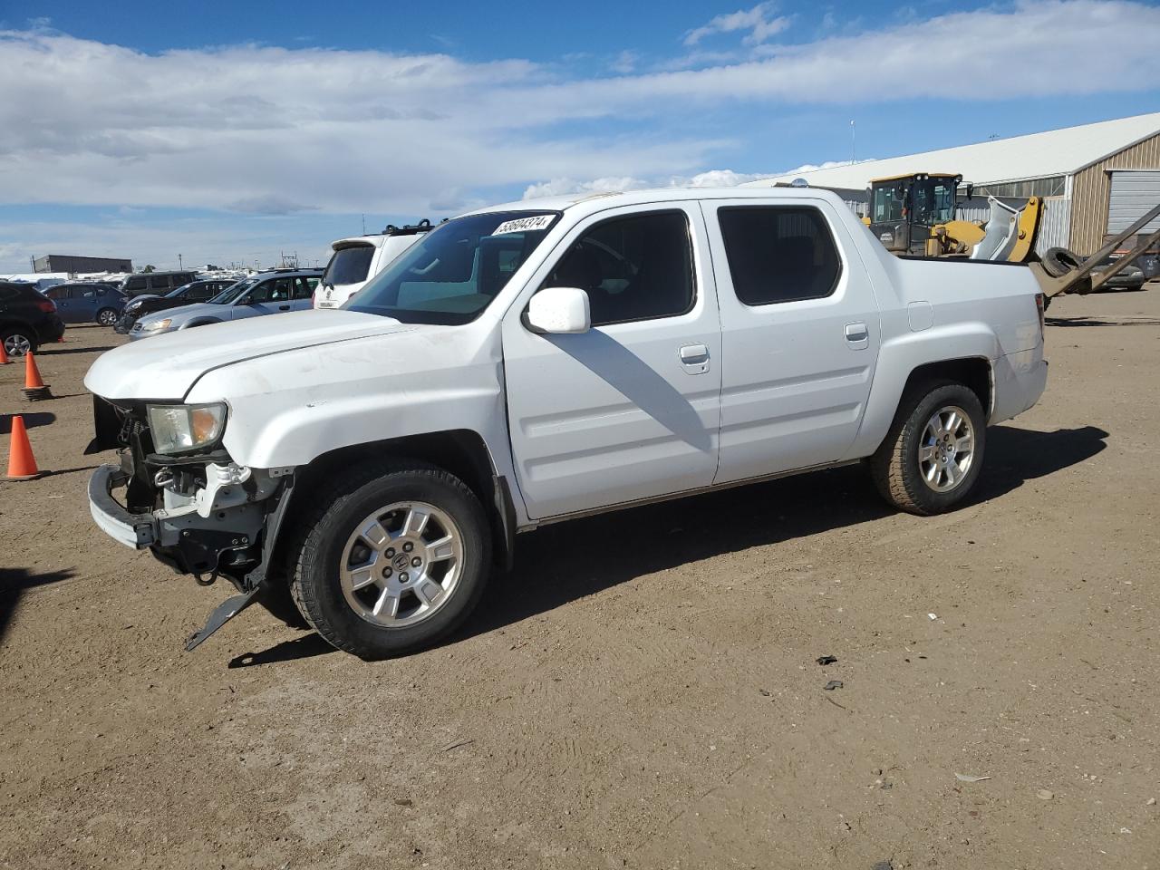
[[[894,420],[906,380],[919,367],[952,360],[986,360],[993,368],[1000,355],[999,338],[989,326],[978,321],[906,332],[884,341],[862,426],[843,458],[858,459],[878,449]]]

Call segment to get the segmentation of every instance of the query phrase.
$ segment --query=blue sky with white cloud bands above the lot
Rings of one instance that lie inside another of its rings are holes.
[[[851,119],[871,158],[1160,110],[1130,0],[26,0],[0,31],[0,273],[325,261],[364,213],[848,160]]]

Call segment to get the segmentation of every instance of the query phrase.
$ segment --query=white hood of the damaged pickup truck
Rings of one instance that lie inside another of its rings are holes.
[[[180,400],[202,375],[232,363],[414,328],[355,311],[295,311],[212,324],[101,354],[85,387],[106,399]]]

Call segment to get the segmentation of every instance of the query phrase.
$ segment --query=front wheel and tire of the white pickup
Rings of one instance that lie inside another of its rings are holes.
[[[290,582],[322,638],[383,659],[430,646],[467,617],[487,582],[492,542],[462,480],[425,463],[385,462],[322,487],[298,525]]]

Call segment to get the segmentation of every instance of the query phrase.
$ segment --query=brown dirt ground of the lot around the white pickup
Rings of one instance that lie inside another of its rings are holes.
[[[70,327],[59,398],[0,368],[53,472],[0,483],[0,867],[1160,868],[1160,287],[1049,318],[963,509],[848,467],[552,527],[378,664],[259,609],[182,652],[229,585],[93,525],[121,340]]]

